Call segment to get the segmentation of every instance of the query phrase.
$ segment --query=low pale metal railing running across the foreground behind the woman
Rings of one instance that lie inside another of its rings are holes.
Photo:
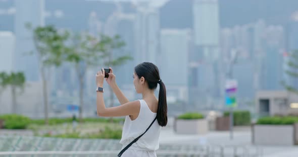
[[[52,137],[0,136],[2,156],[116,156],[122,145],[113,139],[65,139]],[[253,145],[160,144],[158,156],[262,156]]]

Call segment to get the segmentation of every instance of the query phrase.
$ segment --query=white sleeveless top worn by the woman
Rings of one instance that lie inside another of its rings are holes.
[[[122,149],[132,140],[144,133],[157,115],[157,113],[150,110],[144,100],[138,101],[140,102],[138,117],[133,121],[129,116],[125,117],[122,138],[120,140],[120,144],[123,145]],[[160,131],[161,126],[158,124],[157,120],[155,120],[150,129],[129,148],[137,150],[157,150],[159,148]]]

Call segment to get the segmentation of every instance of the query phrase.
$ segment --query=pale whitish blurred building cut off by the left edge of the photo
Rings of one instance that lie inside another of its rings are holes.
[[[12,72],[16,37],[12,32],[0,32],[0,71]]]

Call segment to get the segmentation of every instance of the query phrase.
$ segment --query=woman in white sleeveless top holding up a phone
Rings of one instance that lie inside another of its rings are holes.
[[[168,122],[166,88],[160,78],[157,66],[150,62],[143,62],[134,68],[133,85],[136,92],[142,94],[142,100],[132,102],[129,102],[117,86],[116,76],[113,69],[110,68],[106,81],[112,87],[121,104],[117,107],[106,108],[105,106],[104,77],[103,68],[96,74],[97,115],[103,117],[126,116],[120,140],[123,145],[122,150],[133,140],[137,140],[121,156],[156,156],[161,127],[166,126]],[[160,85],[159,99],[154,94],[158,84]],[[149,126],[151,127],[148,128]],[[143,135],[138,138],[141,134]]]

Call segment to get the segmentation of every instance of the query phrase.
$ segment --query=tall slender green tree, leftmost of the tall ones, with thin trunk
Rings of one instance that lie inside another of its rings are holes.
[[[33,31],[33,42],[36,48],[36,51],[33,51],[33,53],[36,53],[39,63],[43,89],[44,120],[45,123],[48,124],[46,71],[49,67],[58,67],[62,64],[63,54],[68,51],[65,42],[69,38],[69,33],[67,31],[59,32],[52,25],[32,29],[31,26],[27,24],[27,28]]]

